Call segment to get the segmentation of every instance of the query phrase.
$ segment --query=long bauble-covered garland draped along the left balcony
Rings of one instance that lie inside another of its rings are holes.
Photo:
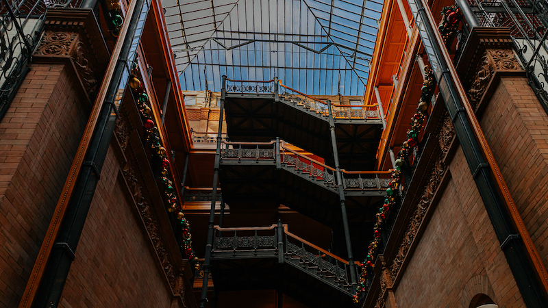
[[[173,186],[173,181],[170,179],[171,175],[169,172],[169,157],[166,149],[162,146],[162,140],[160,139],[158,127],[154,123],[152,110],[148,105],[149,96],[138,77],[137,64],[134,64],[132,69],[132,77],[129,78],[128,84],[137,98],[137,107],[141,116],[142,126],[145,129],[145,140],[147,140],[147,144],[149,145],[153,159],[157,159],[161,165],[159,181],[160,188],[163,190],[163,197],[169,204],[167,211],[173,214],[176,213],[177,219],[179,220],[179,222],[177,222],[177,227],[180,228],[179,231],[182,236],[180,248],[190,263],[197,267],[199,266],[197,264],[198,258],[192,248],[192,233],[190,233],[190,224],[188,224],[188,220],[186,220],[182,212],[179,200],[174,193],[175,188]]]

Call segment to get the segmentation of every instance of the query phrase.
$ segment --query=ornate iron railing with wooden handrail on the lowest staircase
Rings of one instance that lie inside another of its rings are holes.
[[[351,295],[348,261],[288,231],[269,227],[214,227],[213,258],[277,257]],[[279,238],[282,236],[282,238]],[[282,243],[282,244],[280,244]],[[280,246],[282,245],[282,246]]]

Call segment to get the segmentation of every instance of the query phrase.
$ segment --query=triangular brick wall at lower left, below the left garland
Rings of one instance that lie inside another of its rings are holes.
[[[60,307],[170,307],[164,273],[129,204],[112,146],[82,231]]]

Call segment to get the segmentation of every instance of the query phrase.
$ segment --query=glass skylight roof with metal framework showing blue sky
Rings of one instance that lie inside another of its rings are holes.
[[[308,94],[362,95],[380,0],[163,0],[182,90],[221,75]]]

